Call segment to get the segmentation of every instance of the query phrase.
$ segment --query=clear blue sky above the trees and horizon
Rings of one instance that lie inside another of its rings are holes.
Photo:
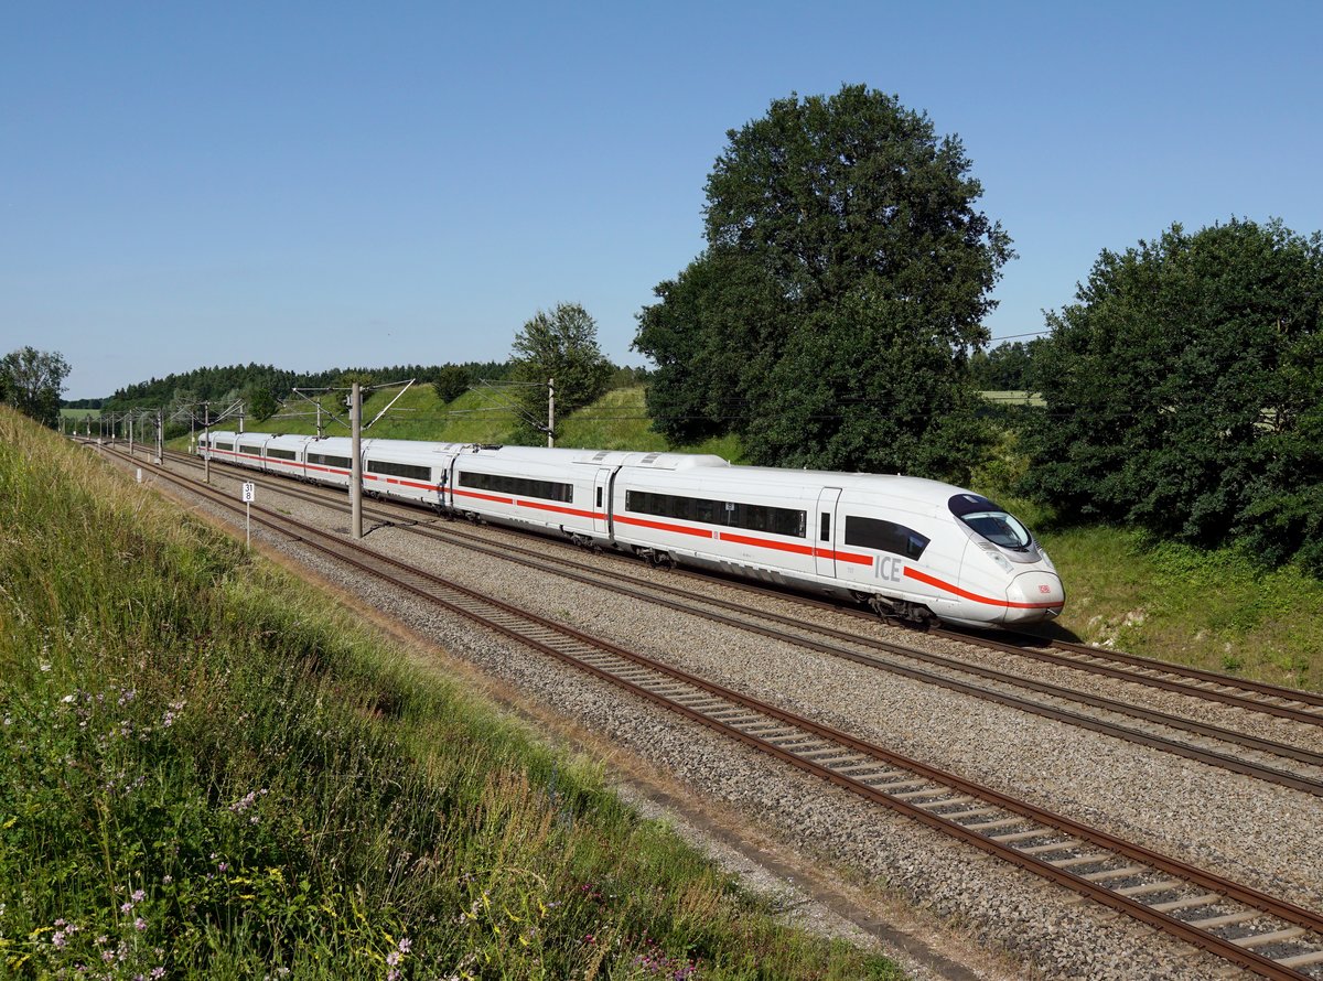
[[[257,361],[630,350],[725,132],[865,83],[958,134],[1019,259],[996,338],[1174,221],[1323,229],[1323,4],[0,5],[0,354],[67,398]]]

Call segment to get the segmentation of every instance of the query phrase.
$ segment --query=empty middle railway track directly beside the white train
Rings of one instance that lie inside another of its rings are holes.
[[[196,460],[191,457],[180,459],[196,465]],[[245,479],[258,476],[242,468],[237,468],[234,472],[242,473]],[[320,488],[311,489],[283,479],[259,479],[280,493],[347,510],[341,496],[335,492]],[[388,506],[390,510],[370,505],[365,508],[364,513],[368,517],[397,525],[401,516],[405,516],[406,521],[417,521],[421,513],[396,502]],[[462,531],[441,530],[427,524],[407,524],[402,528],[448,545],[458,543],[474,551],[519,562],[529,569],[572,578],[630,599],[667,606],[685,615],[703,616],[728,627],[796,644],[823,654],[945,687],[980,701],[1005,705],[1019,711],[1065,722],[1257,780],[1323,796],[1323,754],[1308,748],[1144,709],[1115,698],[1035,681],[912,645],[893,644],[820,624],[810,624],[800,617],[750,609],[740,603],[721,600],[713,596],[710,590],[697,592],[659,584],[614,570],[603,571],[573,558],[549,555],[545,549],[534,550],[511,543],[496,543],[490,537],[479,538]],[[566,551],[570,549],[566,547]],[[579,553],[573,550],[573,554],[578,555]],[[734,583],[734,586],[740,588],[742,584]],[[781,592],[777,595],[786,598]],[[789,599],[799,600],[800,598]],[[808,602],[819,603],[818,600]],[[822,606],[839,611],[839,606]],[[873,619],[869,615],[860,615],[868,616],[869,620]],[[968,643],[966,635],[951,636],[962,643]],[[1020,648],[1015,645],[996,644],[996,647],[1020,653]]]

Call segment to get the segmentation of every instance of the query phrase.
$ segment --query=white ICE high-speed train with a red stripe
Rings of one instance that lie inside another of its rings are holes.
[[[1028,529],[951,484],[733,467],[718,456],[363,440],[364,490],[658,563],[966,625],[1050,619],[1065,590]],[[212,432],[212,459],[348,487],[351,440]]]

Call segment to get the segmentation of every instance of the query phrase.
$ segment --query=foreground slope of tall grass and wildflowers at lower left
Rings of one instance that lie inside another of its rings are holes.
[[[0,407],[0,974],[890,977]]]

